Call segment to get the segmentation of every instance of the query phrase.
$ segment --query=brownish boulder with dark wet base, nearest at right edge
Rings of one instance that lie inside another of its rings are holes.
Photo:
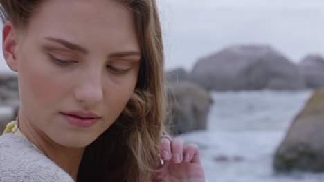
[[[324,90],[316,90],[276,151],[278,172],[324,172]]]

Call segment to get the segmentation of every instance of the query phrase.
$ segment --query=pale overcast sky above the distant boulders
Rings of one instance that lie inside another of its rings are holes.
[[[197,59],[235,44],[267,44],[298,62],[324,56],[324,0],[157,0],[165,65],[191,70]],[[8,70],[0,59],[0,70]]]

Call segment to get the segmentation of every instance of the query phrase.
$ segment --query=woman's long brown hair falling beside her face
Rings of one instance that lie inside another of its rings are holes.
[[[3,23],[19,29],[45,0],[0,0]],[[107,0],[109,1],[109,0]],[[82,181],[152,181],[165,132],[163,43],[155,0],[115,0],[132,10],[141,45],[136,89],[110,128],[86,147],[78,171]]]

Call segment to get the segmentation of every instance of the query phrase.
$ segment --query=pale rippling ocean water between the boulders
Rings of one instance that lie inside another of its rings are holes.
[[[278,175],[276,148],[312,90],[213,92],[208,130],[183,134],[197,143],[208,182],[320,182],[323,174]]]

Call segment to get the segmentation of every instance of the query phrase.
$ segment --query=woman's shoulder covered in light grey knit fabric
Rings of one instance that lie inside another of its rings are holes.
[[[62,168],[16,134],[0,136],[0,176],[0,181],[8,182],[73,181]]]

